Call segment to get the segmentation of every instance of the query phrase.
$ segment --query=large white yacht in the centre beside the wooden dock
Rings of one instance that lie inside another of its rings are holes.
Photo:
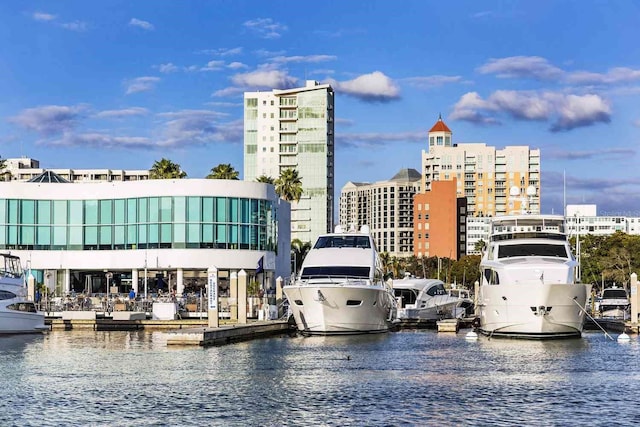
[[[304,335],[387,332],[396,316],[368,226],[321,235],[283,292]]]

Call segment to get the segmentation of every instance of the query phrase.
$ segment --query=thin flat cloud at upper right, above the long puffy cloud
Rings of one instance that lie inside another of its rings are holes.
[[[510,56],[491,59],[480,66],[482,74],[496,74],[501,78],[533,78],[536,80],[554,80],[563,76],[564,71],[539,56]]]

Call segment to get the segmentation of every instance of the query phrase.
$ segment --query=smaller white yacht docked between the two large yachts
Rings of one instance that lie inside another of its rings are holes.
[[[473,301],[453,296],[438,279],[406,276],[393,281],[393,293],[398,301],[399,320],[441,320],[464,317]]]

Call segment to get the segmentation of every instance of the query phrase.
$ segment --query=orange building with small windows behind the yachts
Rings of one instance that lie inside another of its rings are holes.
[[[460,259],[466,254],[466,199],[457,196],[456,179],[434,181],[413,199],[416,257]]]

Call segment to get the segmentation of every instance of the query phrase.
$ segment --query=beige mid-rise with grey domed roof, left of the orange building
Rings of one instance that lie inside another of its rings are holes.
[[[402,169],[388,181],[348,182],[340,194],[340,224],[355,229],[369,225],[380,252],[413,255],[413,197],[421,180],[417,170]]]

